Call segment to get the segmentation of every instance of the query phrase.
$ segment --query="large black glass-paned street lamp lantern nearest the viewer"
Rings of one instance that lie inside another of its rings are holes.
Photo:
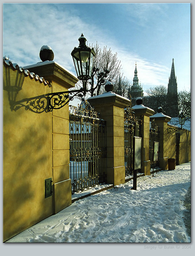
[[[91,72],[93,68],[93,61],[95,57],[94,49],[88,47],[87,41],[83,34],[79,37],[79,46],[74,47],[71,55],[74,61],[77,77],[82,80],[83,89],[87,89],[87,80],[91,79]]]

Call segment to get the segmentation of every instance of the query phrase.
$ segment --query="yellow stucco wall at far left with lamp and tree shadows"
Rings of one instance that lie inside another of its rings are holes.
[[[19,72],[9,69],[11,78]],[[16,100],[49,92],[48,85],[27,76]],[[11,111],[5,90],[3,102],[3,213],[7,240],[53,213],[52,196],[45,198],[44,184],[45,179],[52,178],[52,113],[37,114],[24,107]]]

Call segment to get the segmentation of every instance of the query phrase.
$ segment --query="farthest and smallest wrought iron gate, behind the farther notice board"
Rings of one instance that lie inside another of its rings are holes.
[[[158,125],[156,125],[154,119],[150,122],[150,131],[149,131],[149,160],[150,168],[153,168],[153,143],[154,141],[160,142],[160,131]],[[159,143],[160,144],[160,143]],[[160,149],[160,145],[159,145]],[[159,166],[159,161],[154,163],[154,167]]]

